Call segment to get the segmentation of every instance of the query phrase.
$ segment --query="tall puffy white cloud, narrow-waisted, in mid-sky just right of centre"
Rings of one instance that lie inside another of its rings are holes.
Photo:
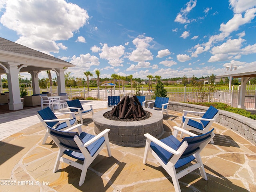
[[[153,60],[152,53],[147,48],[150,46],[150,42],[153,40],[151,37],[144,37],[143,35],[135,38],[132,43],[136,46],[136,50],[132,51],[129,56],[129,60],[134,62],[142,62],[146,60]]]

